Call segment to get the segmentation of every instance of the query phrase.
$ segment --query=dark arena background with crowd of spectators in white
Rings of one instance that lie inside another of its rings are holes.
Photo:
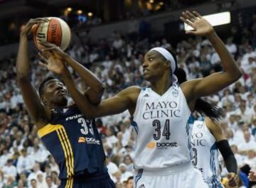
[[[215,30],[240,65],[238,82],[210,101],[225,111],[220,121],[232,145],[241,176],[240,187],[250,187],[248,168],[256,170],[256,1],[255,0],[0,0],[0,188],[57,187],[58,166],[38,139],[16,83],[16,54],[21,28],[29,18],[56,16],[72,28],[67,52],[90,68],[105,84],[103,98],[131,85],[144,86],[142,60],[151,47],[175,50],[188,79],[221,71],[220,60],[205,38],[186,35],[181,11],[202,15],[230,11],[231,22]],[[50,74],[38,65],[33,41],[29,43],[31,81],[38,88]],[[75,73],[76,81],[80,83]],[[81,85],[81,84],[80,84]],[[82,85],[80,86],[82,88]],[[71,102],[71,99],[70,99]],[[117,187],[132,187],[134,132],[129,114],[97,119],[107,167]],[[244,138],[249,131],[250,138]],[[246,145],[247,153],[240,154]],[[220,157],[221,175],[227,170]],[[36,184],[31,185],[31,179]]]

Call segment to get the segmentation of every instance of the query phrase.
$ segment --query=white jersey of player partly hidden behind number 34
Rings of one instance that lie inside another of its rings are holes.
[[[210,187],[220,184],[218,149],[216,140],[208,130],[204,118],[195,121],[191,134],[192,164],[202,172],[203,179]]]

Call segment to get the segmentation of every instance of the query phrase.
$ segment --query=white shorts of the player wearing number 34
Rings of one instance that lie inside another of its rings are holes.
[[[191,162],[171,169],[137,170],[134,188],[208,188],[201,172]]]

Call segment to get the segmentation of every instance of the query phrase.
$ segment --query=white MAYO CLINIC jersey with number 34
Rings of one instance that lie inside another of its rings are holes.
[[[162,96],[142,88],[132,122],[137,133],[135,169],[157,170],[190,162],[190,116],[181,87],[172,86]]]

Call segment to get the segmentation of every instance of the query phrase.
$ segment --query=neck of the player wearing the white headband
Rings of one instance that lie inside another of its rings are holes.
[[[151,82],[152,89],[159,95],[164,94],[171,87],[171,77],[163,76]]]

